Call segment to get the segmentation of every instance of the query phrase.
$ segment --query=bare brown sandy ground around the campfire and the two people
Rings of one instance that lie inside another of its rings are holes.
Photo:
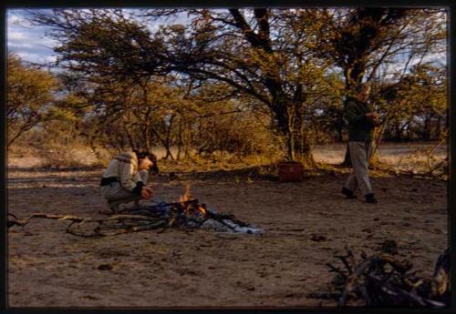
[[[104,217],[102,169],[8,173],[8,210]],[[8,232],[10,307],[318,306],[308,299],[333,278],[326,262],[349,246],[378,251],[399,243],[418,274],[430,276],[447,247],[447,184],[372,176],[379,204],[339,194],[347,173],[282,183],[226,173],[154,177],[155,198],[192,197],[264,228],[264,235],[168,229],[110,238],[78,238],[66,221],[34,220]],[[322,236],[322,237],[315,237]],[[320,240],[316,241],[316,239]],[[102,266],[109,265],[109,267]],[[101,269],[98,267],[101,266]],[[105,270],[103,270],[105,269]]]

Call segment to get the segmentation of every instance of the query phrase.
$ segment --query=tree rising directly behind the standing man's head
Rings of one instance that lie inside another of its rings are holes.
[[[441,9],[332,9],[325,10],[323,16],[326,21],[321,29],[323,40],[317,48],[341,68],[346,93],[363,80],[389,79],[390,65],[398,65],[403,77],[415,60],[420,63],[445,46],[446,30],[442,23],[445,12]],[[377,145],[382,133],[376,133]],[[347,149],[343,164],[348,163]]]

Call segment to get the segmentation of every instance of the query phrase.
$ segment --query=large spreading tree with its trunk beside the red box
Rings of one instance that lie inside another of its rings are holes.
[[[148,10],[142,16],[177,11]],[[58,37],[60,65],[89,75],[138,78],[176,72],[219,81],[253,96],[274,117],[285,156],[313,163],[306,137],[306,104],[326,63],[315,58],[316,10],[190,10],[191,23],[162,26],[154,35],[121,10],[55,10],[36,13]],[[248,14],[251,14],[250,16]]]

